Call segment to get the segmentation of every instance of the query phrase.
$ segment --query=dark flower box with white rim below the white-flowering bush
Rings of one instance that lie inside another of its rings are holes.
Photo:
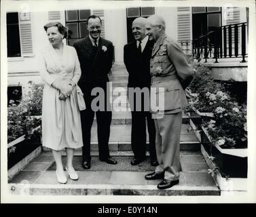
[[[215,164],[221,170],[222,177],[225,175],[229,178],[247,177],[247,149],[223,149],[221,146],[213,144],[204,127],[201,131],[201,141],[208,155],[215,157]]]

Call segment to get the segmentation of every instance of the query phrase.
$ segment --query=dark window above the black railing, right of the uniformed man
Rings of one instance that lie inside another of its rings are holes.
[[[221,26],[221,7],[192,7],[193,39],[215,31],[219,26]]]

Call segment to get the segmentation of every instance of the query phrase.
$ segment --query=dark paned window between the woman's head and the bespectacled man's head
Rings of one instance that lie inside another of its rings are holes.
[[[67,43],[73,45],[77,39],[82,39],[88,35],[86,22],[91,12],[90,9],[79,9],[68,10],[65,14],[68,30]]]

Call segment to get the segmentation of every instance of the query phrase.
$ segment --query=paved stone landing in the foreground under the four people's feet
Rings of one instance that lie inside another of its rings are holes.
[[[79,180],[68,178],[67,184],[59,184],[52,153],[41,153],[9,182],[8,190],[12,195],[220,195],[200,152],[181,152],[179,184],[166,190],[157,189],[161,180],[145,180],[145,174],[154,170],[149,157],[136,166],[130,165],[132,157],[115,159],[117,165],[109,165],[92,157],[92,167],[84,170],[81,157],[74,157]],[[65,165],[66,157],[62,161]]]

